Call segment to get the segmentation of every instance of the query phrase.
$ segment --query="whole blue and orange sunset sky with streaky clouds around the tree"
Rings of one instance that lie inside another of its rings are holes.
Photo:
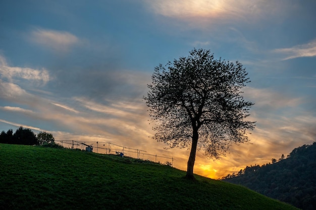
[[[313,0],[1,0],[0,130],[110,142],[186,170],[190,148],[151,138],[142,98],[155,66],[203,48],[246,68],[256,128],[220,160],[197,152],[194,173],[286,157],[316,141],[315,10]]]

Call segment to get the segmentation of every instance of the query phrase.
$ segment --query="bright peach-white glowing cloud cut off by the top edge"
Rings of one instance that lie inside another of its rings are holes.
[[[277,4],[266,1],[234,1],[234,0],[144,0],[145,4],[156,14],[197,21],[206,18],[212,22],[217,20],[249,19],[275,12]],[[194,20],[195,18],[198,18]]]

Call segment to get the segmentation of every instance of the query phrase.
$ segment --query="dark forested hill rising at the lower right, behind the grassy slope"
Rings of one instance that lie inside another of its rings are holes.
[[[283,156],[284,157],[284,156]],[[273,164],[247,166],[224,181],[240,184],[304,210],[316,209],[316,142]]]

